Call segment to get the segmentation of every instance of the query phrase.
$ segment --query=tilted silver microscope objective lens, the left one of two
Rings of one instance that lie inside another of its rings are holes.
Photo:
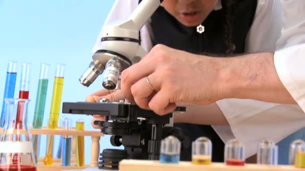
[[[93,60],[85,72],[80,76],[79,81],[85,86],[89,86],[98,75],[102,74],[104,66],[96,60]]]

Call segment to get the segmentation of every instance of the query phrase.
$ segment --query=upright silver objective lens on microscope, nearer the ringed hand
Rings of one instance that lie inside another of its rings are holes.
[[[106,89],[114,89],[119,82],[122,64],[119,60],[109,59],[105,66],[105,73],[103,79],[103,87]]]

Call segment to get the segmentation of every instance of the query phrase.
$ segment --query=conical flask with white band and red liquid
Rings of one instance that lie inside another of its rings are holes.
[[[27,122],[29,101],[5,99],[6,121],[0,138],[0,171],[37,170]]]

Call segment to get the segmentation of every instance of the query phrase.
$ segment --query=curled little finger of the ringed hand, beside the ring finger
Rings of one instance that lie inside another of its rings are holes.
[[[164,115],[175,110],[176,103],[170,102],[169,92],[165,89],[161,89],[148,103],[151,110],[154,110],[157,114]]]

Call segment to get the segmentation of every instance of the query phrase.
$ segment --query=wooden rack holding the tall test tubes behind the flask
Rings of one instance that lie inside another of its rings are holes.
[[[34,129],[32,126],[29,126],[30,133],[32,135],[72,135],[72,154],[71,154],[71,165],[70,166],[62,166],[61,159],[53,158],[52,166],[45,166],[43,164],[43,158],[38,158],[37,163],[37,171],[60,171],[60,170],[69,170],[69,169],[84,169],[88,167],[98,167],[98,158],[99,158],[99,149],[100,149],[100,136],[104,136],[100,131],[94,130],[76,130],[75,127],[71,130],[64,130],[62,127],[58,127],[57,129],[48,129],[47,126],[44,126],[41,129]],[[0,132],[2,132],[2,128],[0,128]],[[91,136],[91,161],[90,164],[85,165],[83,167],[76,166],[76,136]],[[43,145],[43,144],[41,144]]]

